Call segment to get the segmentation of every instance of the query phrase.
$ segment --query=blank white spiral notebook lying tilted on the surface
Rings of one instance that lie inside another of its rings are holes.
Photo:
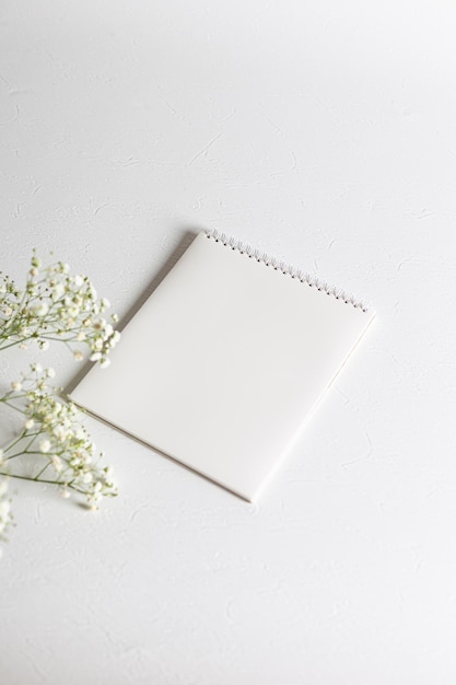
[[[89,411],[248,501],[374,314],[305,274],[199,233],[71,393]]]

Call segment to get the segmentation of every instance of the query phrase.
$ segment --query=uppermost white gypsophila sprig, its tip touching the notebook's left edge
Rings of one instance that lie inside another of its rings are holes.
[[[0,350],[12,345],[27,349],[34,341],[47,349],[49,340],[62,340],[87,346],[90,359],[107,367],[120,338],[113,326],[117,315],[110,321],[104,315],[109,306],[86,276],[71,276],[62,262],[42,267],[34,253],[23,291],[0,274]],[[80,347],[73,352],[77,361],[84,358]]]

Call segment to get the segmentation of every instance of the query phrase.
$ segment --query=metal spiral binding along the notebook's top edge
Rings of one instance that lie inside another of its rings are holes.
[[[276,271],[281,271],[284,276],[296,278],[309,288],[316,288],[320,292],[326,292],[327,295],[331,295],[336,298],[336,300],[344,302],[344,304],[351,304],[351,306],[354,306],[354,309],[361,310],[362,312],[367,311],[367,306],[363,304],[361,300],[353,298],[353,295],[347,294],[343,290],[339,288],[334,288],[332,286],[329,286],[326,281],[321,281],[311,274],[307,274],[306,271],[301,271],[300,269],[296,269],[291,265],[287,265],[283,262],[278,262],[278,259],[276,259],[274,257],[270,257],[266,253],[261,253],[260,251],[250,247],[250,245],[247,245],[242,241],[237,241],[234,237],[229,237],[224,233],[219,233],[219,231],[204,231],[204,233],[206,237],[213,240],[215,243],[222,243],[222,245],[225,245],[225,247],[235,249],[242,255],[247,255],[250,259],[255,259],[256,262],[262,262],[264,264],[266,264],[266,266],[270,266]]]

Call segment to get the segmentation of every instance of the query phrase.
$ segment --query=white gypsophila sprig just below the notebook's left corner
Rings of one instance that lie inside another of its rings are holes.
[[[117,495],[112,468],[101,465],[103,453],[97,454],[77,407],[61,402],[48,387],[52,375],[52,369],[35,363],[27,375],[11,384],[7,404],[21,410],[17,400],[25,399],[24,426],[20,438],[5,451],[3,461],[8,467],[19,455],[35,455],[35,480],[59,485],[63,497],[69,497],[70,490],[80,492],[87,504],[96,509],[102,497]]]

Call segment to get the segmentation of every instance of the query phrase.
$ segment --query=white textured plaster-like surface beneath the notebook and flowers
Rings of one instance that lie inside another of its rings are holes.
[[[454,685],[455,26],[449,0],[3,0],[1,269],[54,248],[125,314],[218,228],[378,320],[258,507],[96,422],[120,499],[17,485],[2,683]]]

